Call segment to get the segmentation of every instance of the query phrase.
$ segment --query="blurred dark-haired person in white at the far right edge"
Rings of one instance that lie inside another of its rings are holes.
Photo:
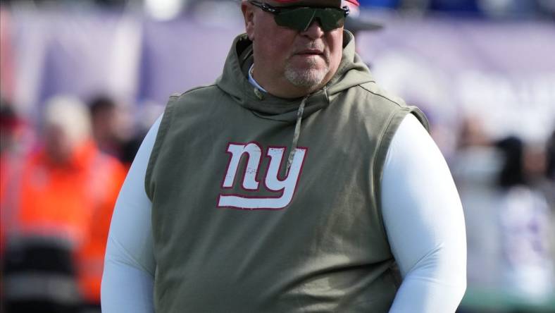
[[[500,227],[499,288],[528,302],[544,302],[554,290],[551,209],[540,184],[547,158],[518,137],[497,142],[503,156],[497,214]],[[553,191],[553,190],[551,190]]]

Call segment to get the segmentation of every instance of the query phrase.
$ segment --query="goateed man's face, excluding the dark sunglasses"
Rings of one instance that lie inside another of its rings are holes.
[[[282,6],[265,1],[270,6]],[[298,1],[295,5],[339,8],[337,0]],[[330,81],[342,56],[343,27],[323,31],[317,20],[305,31],[277,25],[271,13],[242,5],[247,35],[254,42],[254,78],[280,97],[301,97]]]

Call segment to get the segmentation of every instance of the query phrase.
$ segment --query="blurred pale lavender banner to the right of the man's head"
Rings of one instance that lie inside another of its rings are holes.
[[[555,129],[552,37],[549,22],[392,20],[359,50],[378,82],[432,120],[482,118],[493,137],[539,141]]]

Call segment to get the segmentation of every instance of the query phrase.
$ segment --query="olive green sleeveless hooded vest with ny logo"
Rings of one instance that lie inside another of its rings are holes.
[[[387,312],[400,283],[380,211],[389,143],[407,113],[344,32],[322,90],[281,99],[247,80],[251,42],[223,75],[170,97],[146,171],[156,312]],[[289,152],[294,156],[287,166]]]

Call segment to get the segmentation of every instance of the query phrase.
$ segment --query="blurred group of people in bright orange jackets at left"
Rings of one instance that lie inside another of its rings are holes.
[[[0,105],[1,305],[100,312],[111,215],[144,133],[124,136],[125,111],[104,96],[52,97],[41,116]]]

